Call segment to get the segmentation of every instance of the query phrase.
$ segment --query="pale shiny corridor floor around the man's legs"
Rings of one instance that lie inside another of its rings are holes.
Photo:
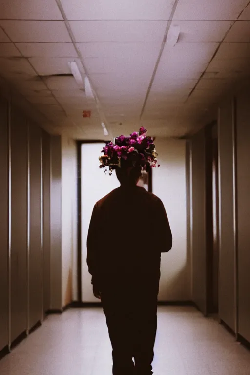
[[[159,307],[155,375],[250,375],[250,352],[191,307]],[[50,316],[0,361],[1,375],[111,375],[111,347],[99,308]]]

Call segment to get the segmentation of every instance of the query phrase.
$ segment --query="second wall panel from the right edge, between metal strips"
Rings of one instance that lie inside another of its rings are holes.
[[[219,317],[236,330],[234,228],[234,101],[225,99],[218,113],[219,162]]]

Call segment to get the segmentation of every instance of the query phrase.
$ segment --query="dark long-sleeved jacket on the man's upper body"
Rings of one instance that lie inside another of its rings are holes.
[[[159,273],[171,247],[164,205],[144,188],[119,187],[95,204],[87,237],[92,282]]]

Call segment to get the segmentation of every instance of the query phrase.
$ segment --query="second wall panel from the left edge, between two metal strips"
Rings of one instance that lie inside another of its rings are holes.
[[[28,126],[17,107],[10,111],[11,342],[28,329]]]

